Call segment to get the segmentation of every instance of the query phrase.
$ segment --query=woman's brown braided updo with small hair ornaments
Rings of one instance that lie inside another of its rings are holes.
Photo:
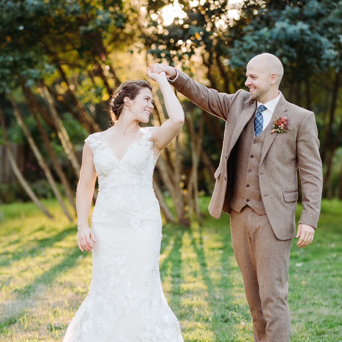
[[[109,100],[109,114],[113,123],[116,123],[119,119],[124,105],[123,99],[127,96],[130,98],[130,100],[134,100],[142,88],[148,88],[149,90],[152,90],[152,87],[149,85],[149,83],[144,80],[126,81],[121,83],[120,86],[114,90]]]

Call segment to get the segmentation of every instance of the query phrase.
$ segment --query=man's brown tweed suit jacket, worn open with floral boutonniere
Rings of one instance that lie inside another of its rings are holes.
[[[224,141],[214,192],[209,205],[210,214],[219,218],[222,210],[231,213],[233,174],[229,158],[242,129],[255,114],[257,102],[250,100],[249,92],[219,93],[208,89],[178,70],[172,86],[196,105],[226,121]],[[315,115],[298,107],[281,95],[270,121],[287,116],[288,133],[265,132],[259,164],[259,184],[267,217],[278,239],[291,239],[295,233],[294,213],[298,200],[297,167],[302,183],[303,211],[299,223],[317,227],[322,193],[322,163],[318,152],[319,141]],[[249,158],[239,156],[239,158]]]

